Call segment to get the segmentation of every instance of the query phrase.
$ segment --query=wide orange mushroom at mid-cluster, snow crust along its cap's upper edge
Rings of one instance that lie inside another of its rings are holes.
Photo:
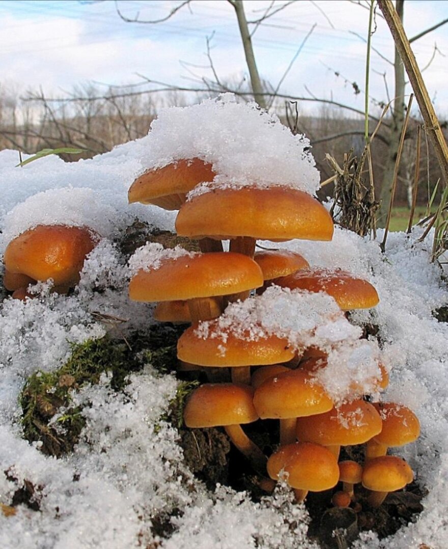
[[[250,366],[288,362],[294,356],[287,339],[275,334],[254,339],[249,329],[237,334],[234,328],[222,329],[219,319],[187,328],[177,341],[177,357],[199,366],[230,367],[233,382],[249,384]]]

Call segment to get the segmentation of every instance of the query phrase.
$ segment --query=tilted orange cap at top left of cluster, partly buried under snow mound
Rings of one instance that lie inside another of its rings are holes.
[[[164,167],[145,171],[128,191],[128,201],[155,204],[165,210],[178,210],[185,195],[197,184],[213,181],[211,164],[199,158],[177,160]]]

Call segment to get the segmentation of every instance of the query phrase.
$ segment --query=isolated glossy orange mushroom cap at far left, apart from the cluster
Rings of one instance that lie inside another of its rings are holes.
[[[3,257],[7,277],[25,275],[33,281],[52,278],[56,286],[75,285],[97,240],[86,227],[37,225],[8,244]]]

